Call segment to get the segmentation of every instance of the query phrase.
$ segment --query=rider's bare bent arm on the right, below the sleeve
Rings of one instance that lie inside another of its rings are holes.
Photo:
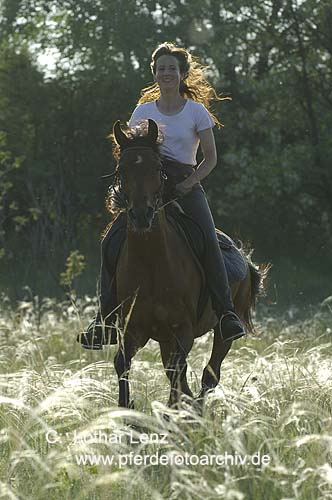
[[[203,152],[203,160],[192,175],[177,184],[176,189],[183,194],[190,191],[195,184],[207,177],[217,165],[217,150],[212,128],[201,130],[201,132],[198,132],[198,135]]]

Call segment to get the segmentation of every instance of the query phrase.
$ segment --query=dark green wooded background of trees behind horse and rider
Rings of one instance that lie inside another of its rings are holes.
[[[4,0],[0,21],[2,292],[60,298],[77,251],[86,267],[74,285],[95,293],[109,219],[101,176],[114,165],[106,136],[129,119],[167,40],[232,97],[215,104],[224,128],[204,181],[217,225],[273,264],[268,303],[331,294],[330,1]]]

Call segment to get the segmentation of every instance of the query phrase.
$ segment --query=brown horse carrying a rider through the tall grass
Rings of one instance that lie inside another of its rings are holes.
[[[218,384],[220,365],[231,347],[231,342],[224,343],[215,328],[217,317],[210,299],[197,319],[202,274],[162,206],[164,175],[158,154],[158,128],[153,120],[148,123],[147,134],[137,138],[128,137],[119,121],[113,127],[121,151],[116,172],[127,213],[127,236],[116,269],[124,333],[114,359],[119,405],[124,407],[133,407],[128,381],[132,358],[150,338],[160,345],[171,384],[170,406],[177,405],[182,394],[193,397],[186,377],[186,359],[195,338],[214,329],[211,357],[202,376],[202,400]],[[247,331],[253,329],[251,310],[263,279],[264,270],[257,270],[248,261],[245,279],[232,285],[235,310]]]

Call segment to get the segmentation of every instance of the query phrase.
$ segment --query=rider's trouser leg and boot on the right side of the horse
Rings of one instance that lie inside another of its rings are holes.
[[[244,335],[241,321],[234,312],[224,258],[216,236],[214,220],[201,185],[178,199],[184,212],[201,227],[205,237],[204,270],[211,293],[212,306],[220,320],[224,340],[235,340]]]

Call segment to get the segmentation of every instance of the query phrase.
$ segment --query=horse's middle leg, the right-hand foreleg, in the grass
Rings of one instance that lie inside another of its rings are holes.
[[[190,398],[193,394],[187,381],[187,356],[193,345],[193,339],[181,345],[175,342],[163,342],[160,344],[160,353],[166,375],[171,383],[171,391],[168,400],[168,406],[176,406],[180,400],[181,394]]]

